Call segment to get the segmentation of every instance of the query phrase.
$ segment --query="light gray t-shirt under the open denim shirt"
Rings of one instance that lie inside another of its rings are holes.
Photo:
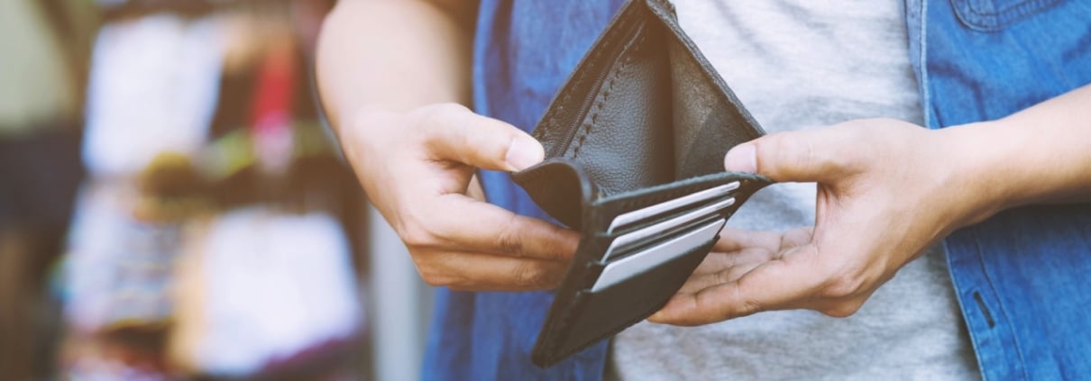
[[[676,0],[682,27],[769,133],[887,116],[922,122],[901,1]],[[814,223],[815,185],[777,184],[729,226]],[[642,322],[612,344],[621,380],[975,379],[942,248],[855,315],[763,312],[697,327]]]

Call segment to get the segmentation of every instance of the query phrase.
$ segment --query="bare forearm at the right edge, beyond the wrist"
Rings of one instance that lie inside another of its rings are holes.
[[[1010,116],[942,132],[991,212],[1091,201],[1091,85]],[[987,217],[987,216],[981,216]]]

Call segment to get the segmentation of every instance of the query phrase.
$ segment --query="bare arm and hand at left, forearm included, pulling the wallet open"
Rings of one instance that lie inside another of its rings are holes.
[[[338,2],[319,44],[321,98],[424,281],[549,288],[578,234],[483,202],[472,181],[477,168],[515,171],[544,156],[518,128],[455,105],[470,101],[475,15],[476,1],[465,0]]]

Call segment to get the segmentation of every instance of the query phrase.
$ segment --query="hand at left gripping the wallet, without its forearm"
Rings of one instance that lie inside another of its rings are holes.
[[[425,282],[467,291],[555,286],[579,235],[471,197],[478,168],[518,171],[541,145],[465,107],[364,109],[341,126],[345,153],[369,198],[405,242]]]

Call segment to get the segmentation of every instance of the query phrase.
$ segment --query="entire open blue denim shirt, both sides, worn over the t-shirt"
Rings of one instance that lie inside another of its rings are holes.
[[[477,111],[532,128],[621,3],[482,0]],[[906,7],[930,127],[1003,118],[1091,83],[1091,1],[907,0]],[[481,176],[491,202],[548,219],[506,173]],[[1091,276],[1084,275],[1091,274],[1091,205],[1009,210],[945,244],[986,378],[1091,377]],[[548,369],[530,362],[551,300],[548,292],[440,290],[423,378],[600,379],[606,341]]]

